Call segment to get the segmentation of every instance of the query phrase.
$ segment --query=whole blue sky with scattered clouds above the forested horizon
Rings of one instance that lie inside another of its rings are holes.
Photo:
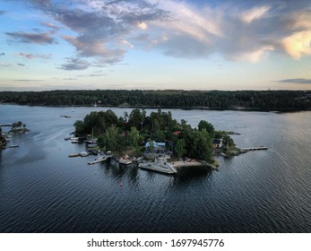
[[[311,90],[309,0],[0,0],[0,91]]]

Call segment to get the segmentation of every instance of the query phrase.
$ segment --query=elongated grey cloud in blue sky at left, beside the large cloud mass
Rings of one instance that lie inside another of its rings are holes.
[[[50,36],[50,33],[29,33],[29,32],[6,32],[6,35],[22,43],[34,43],[39,45],[55,44],[56,39]]]

